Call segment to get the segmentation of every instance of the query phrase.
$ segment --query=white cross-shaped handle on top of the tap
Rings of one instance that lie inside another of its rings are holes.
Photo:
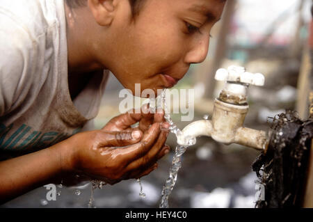
[[[217,70],[215,79],[218,81],[232,81],[255,86],[264,86],[265,81],[263,74],[246,72],[246,68],[236,65],[231,65],[227,70],[223,68]]]

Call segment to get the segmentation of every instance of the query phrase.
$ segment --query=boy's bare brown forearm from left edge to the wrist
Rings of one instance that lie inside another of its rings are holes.
[[[0,162],[0,203],[55,182],[63,173],[62,143]]]

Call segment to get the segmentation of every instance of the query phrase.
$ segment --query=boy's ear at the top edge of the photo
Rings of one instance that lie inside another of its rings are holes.
[[[115,15],[115,0],[88,0],[93,17],[100,26],[109,26]]]

